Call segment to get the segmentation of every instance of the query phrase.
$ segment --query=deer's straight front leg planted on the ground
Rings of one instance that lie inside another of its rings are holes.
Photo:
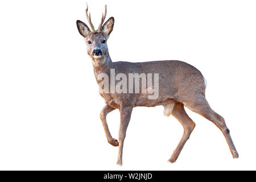
[[[130,122],[132,110],[133,110],[133,107],[131,106],[125,106],[119,109],[120,115],[121,115],[120,117],[121,121],[120,121],[119,134],[118,134],[119,148],[118,148],[117,164],[120,166],[122,166],[123,140],[125,140],[126,130]]]

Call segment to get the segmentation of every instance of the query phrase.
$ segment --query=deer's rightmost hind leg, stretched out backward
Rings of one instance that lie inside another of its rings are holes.
[[[229,129],[226,126],[224,118],[210,108],[207,100],[203,95],[197,95],[196,97],[194,97],[193,101],[184,102],[183,104],[187,106],[188,109],[202,115],[209,121],[212,121],[222,131],[233,158],[238,158],[238,152],[236,150],[236,147],[234,146],[233,140],[230,136]]]

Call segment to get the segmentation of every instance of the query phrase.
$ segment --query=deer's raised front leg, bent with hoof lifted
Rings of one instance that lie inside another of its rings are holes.
[[[102,121],[102,125],[104,127],[106,138],[108,139],[108,142],[116,147],[116,146],[118,146],[118,141],[116,139],[112,138],[110,131],[109,131],[108,123],[106,122],[106,115],[113,110],[115,110],[114,107],[106,104],[101,111],[100,118]]]

